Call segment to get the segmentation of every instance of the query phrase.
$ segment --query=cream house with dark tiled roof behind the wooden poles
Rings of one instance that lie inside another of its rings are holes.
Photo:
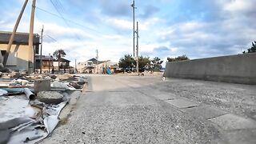
[[[2,57],[6,54],[11,34],[11,32],[0,31],[0,50]],[[34,70],[34,55],[38,54],[38,47],[40,45],[39,38],[40,36],[38,34],[34,34],[34,53],[32,54],[32,62],[29,62],[29,34],[16,33],[14,36],[14,42],[10,48],[10,54],[6,62],[6,68],[9,68],[10,70]]]

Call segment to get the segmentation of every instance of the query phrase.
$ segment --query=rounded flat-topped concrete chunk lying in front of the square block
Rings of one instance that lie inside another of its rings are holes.
[[[63,95],[57,91],[40,91],[36,98],[40,102],[45,102],[47,104],[58,104],[63,101]]]

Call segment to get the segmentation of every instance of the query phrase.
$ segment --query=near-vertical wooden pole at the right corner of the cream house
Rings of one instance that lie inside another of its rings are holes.
[[[35,11],[35,3],[36,0],[33,0],[32,2],[32,10],[30,15],[30,37],[29,37],[29,73],[33,71],[33,62],[34,62],[34,47],[33,47],[33,41],[34,41],[34,11]]]

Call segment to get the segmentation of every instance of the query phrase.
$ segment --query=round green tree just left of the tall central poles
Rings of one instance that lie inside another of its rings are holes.
[[[119,67],[122,68],[123,71],[126,69],[131,69],[134,67],[135,60],[130,54],[125,54],[124,57],[120,58],[119,62]]]

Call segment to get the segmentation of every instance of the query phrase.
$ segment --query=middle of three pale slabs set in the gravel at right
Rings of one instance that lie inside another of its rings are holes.
[[[223,114],[227,114],[226,111],[218,110],[211,106],[197,106],[188,109],[184,109],[186,113],[194,115],[194,117],[202,117],[204,119],[215,118]]]

